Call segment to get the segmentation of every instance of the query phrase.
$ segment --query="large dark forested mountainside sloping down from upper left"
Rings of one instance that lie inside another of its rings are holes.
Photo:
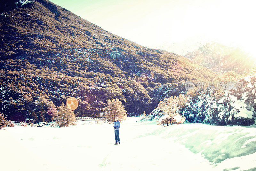
[[[71,96],[79,101],[76,116],[100,117],[112,98],[128,116],[150,113],[164,97],[184,91],[185,81],[216,78],[182,56],[140,46],[47,0],[4,0],[0,9],[0,112],[10,120],[47,120],[47,105]]]

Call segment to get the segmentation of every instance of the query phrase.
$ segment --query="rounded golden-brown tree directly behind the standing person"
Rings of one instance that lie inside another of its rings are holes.
[[[108,106],[104,110],[103,119],[108,122],[114,122],[116,116],[119,121],[125,120],[127,116],[126,110],[124,109],[122,102],[118,99],[108,100]]]

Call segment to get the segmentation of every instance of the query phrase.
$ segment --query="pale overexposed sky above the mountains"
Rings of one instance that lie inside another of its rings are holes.
[[[254,0],[50,1],[143,46],[216,41],[256,54]]]

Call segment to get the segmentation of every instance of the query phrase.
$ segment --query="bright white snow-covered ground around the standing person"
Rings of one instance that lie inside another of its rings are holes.
[[[120,145],[113,125],[79,121],[76,126],[7,127],[0,130],[0,169],[189,170],[256,169],[256,128],[154,121],[121,122]]]

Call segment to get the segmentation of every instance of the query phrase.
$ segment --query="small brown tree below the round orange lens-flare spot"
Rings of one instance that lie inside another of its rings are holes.
[[[75,125],[75,114],[68,109],[64,103],[58,107],[57,124],[60,127],[68,127],[69,125]]]

